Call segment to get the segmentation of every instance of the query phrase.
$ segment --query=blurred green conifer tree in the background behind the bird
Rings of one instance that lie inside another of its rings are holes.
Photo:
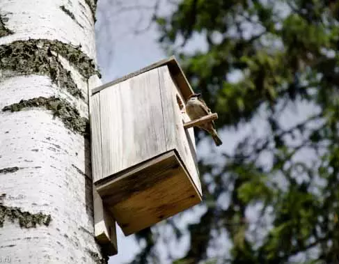
[[[206,209],[187,228],[189,251],[173,263],[337,263],[339,1],[173,4],[171,15],[155,13],[159,41],[219,114],[221,135],[244,134],[253,122],[262,130],[199,161]],[[197,38],[206,48],[187,52]],[[301,120],[284,121],[305,105]],[[222,234],[231,249],[210,258]],[[134,263],[156,263],[155,235],[146,229],[137,238],[147,246]]]

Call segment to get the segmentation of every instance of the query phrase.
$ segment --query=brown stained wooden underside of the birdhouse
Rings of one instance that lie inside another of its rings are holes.
[[[200,192],[175,150],[96,186],[125,235],[152,226],[201,201]]]

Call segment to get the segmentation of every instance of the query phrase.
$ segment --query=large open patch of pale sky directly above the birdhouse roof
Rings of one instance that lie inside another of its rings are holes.
[[[126,1],[130,6],[152,6],[153,0]],[[136,10],[118,1],[100,0],[95,24],[97,59],[105,83],[166,58],[157,44],[155,26],[142,33],[150,22],[152,10]]]

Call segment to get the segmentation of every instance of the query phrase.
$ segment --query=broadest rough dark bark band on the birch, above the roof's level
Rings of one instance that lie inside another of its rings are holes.
[[[58,55],[67,59],[87,79],[100,75],[93,60],[81,52],[80,47],[58,40],[18,40],[10,45],[0,45],[0,68],[14,71],[17,75],[46,75],[74,97],[84,99],[70,71],[61,65]]]

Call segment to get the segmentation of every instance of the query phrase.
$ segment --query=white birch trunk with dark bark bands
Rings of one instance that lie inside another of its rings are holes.
[[[106,263],[88,85],[96,0],[0,0],[0,262]]]

